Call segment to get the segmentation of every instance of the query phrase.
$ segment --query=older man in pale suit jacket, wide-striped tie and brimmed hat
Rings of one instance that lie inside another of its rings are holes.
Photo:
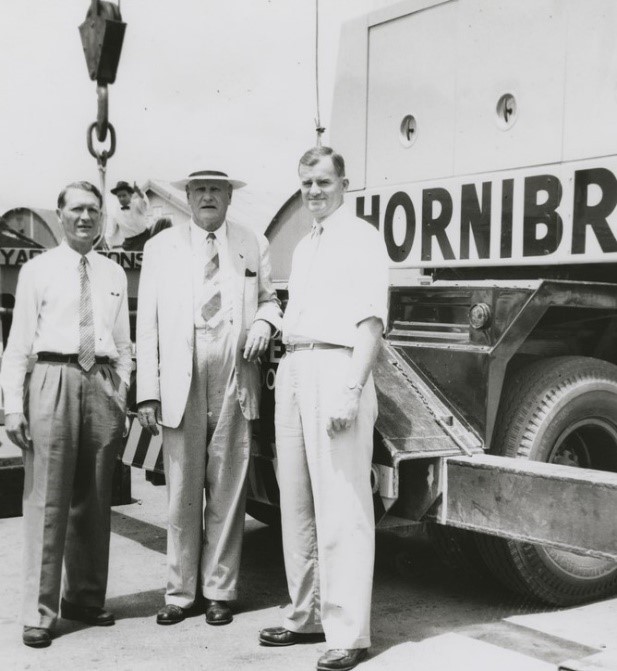
[[[163,427],[169,508],[168,582],[157,622],[182,621],[201,589],[206,621],[227,624],[259,357],[282,315],[267,241],[226,218],[233,189],[244,183],[202,170],[176,185],[185,187],[193,217],[146,244],[137,313],[138,416],[153,434]]]

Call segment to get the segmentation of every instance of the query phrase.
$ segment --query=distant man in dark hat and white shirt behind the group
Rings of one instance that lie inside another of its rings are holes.
[[[118,205],[107,219],[107,245],[110,249],[140,252],[150,238],[148,198],[137,184],[131,186],[123,181],[118,182],[111,192],[118,199]]]

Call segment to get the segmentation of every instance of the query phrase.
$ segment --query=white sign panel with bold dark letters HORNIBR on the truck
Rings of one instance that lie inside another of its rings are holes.
[[[355,195],[394,267],[617,261],[617,157]]]

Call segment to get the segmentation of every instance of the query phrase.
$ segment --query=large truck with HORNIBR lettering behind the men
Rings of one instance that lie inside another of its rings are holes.
[[[377,524],[558,606],[617,589],[616,28],[611,0],[403,0],[343,27],[330,119],[391,264]],[[296,194],[267,231],[283,298],[307,226]],[[277,504],[262,427],[248,510]]]

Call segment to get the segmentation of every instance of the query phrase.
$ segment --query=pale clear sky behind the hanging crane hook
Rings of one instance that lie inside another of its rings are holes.
[[[116,2],[117,4],[117,2]],[[341,23],[391,0],[319,0],[320,98],[328,126]],[[120,179],[219,169],[252,189],[297,188],[315,143],[316,0],[120,0],[127,23],[109,118]],[[0,2],[0,209],[53,208],[68,182],[99,184],[96,118],[78,26],[90,0]],[[325,142],[328,135],[325,135]]]

